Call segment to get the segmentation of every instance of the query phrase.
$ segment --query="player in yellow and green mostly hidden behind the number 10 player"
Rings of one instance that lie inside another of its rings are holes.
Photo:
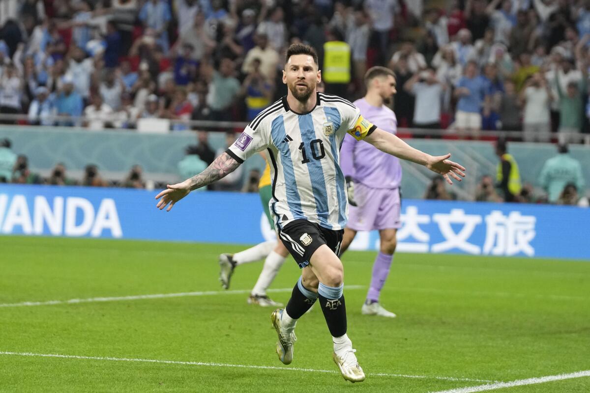
[[[258,193],[260,194],[264,213],[268,218],[270,227],[274,229],[274,222],[270,214],[270,208],[268,207],[273,196],[268,161],[258,182]],[[278,270],[283,266],[288,255],[289,251],[287,251],[283,243],[273,240],[268,240],[268,242],[260,243],[235,254],[221,254],[219,255],[219,281],[221,281],[221,286],[225,289],[230,288],[230,279],[236,266],[266,258],[262,272],[260,272],[258,280],[250,293],[248,303],[263,307],[282,306],[281,303],[270,299],[266,290],[277,276]]]

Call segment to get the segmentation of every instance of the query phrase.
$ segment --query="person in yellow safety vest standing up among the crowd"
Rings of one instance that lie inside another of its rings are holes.
[[[339,32],[328,32],[324,44],[322,70],[322,80],[326,82],[327,93],[346,97],[350,71],[350,45],[344,42]]]

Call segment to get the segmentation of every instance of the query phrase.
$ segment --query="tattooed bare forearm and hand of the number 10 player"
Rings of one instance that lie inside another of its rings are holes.
[[[223,153],[221,156],[215,158],[215,161],[213,161],[207,169],[191,177],[191,179],[186,179],[182,183],[173,184],[172,186],[168,185],[166,190],[163,190],[156,195],[156,199],[162,198],[158,201],[156,207],[163,210],[168,204],[170,204],[168,209],[166,209],[166,212],[169,212],[176,202],[187,196],[192,190],[208,186],[209,184],[222,179],[235,171],[239,166],[240,163],[232,158],[230,154]]]

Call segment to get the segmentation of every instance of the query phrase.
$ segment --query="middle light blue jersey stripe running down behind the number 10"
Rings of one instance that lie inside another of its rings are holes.
[[[309,180],[312,183],[313,197],[316,200],[317,219],[324,228],[332,229],[332,225],[328,222],[330,218],[330,209],[328,207],[328,194],[326,190],[326,180],[324,179],[324,170],[322,169],[322,161],[313,158],[312,148],[319,149],[319,143],[313,143],[316,139],[316,130],[313,127],[312,114],[299,115],[299,131],[301,132],[301,140],[305,148],[309,163],[307,163],[307,170],[309,171]],[[313,145],[313,146],[312,146]],[[320,153],[316,151],[316,153]]]

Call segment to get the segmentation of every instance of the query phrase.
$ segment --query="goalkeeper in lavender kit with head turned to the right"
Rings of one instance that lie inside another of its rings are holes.
[[[360,114],[381,130],[395,134],[397,119],[385,106],[396,93],[395,74],[389,68],[373,67],[365,74],[367,93],[354,104]],[[359,230],[379,230],[379,253],[373,263],[371,286],[361,312],[395,318],[379,304],[379,293],[389,274],[395,251],[399,220],[402,168],[399,158],[383,153],[350,135],[340,150],[342,172],[350,203],[348,224],[344,229],[340,255],[348,249]]]

